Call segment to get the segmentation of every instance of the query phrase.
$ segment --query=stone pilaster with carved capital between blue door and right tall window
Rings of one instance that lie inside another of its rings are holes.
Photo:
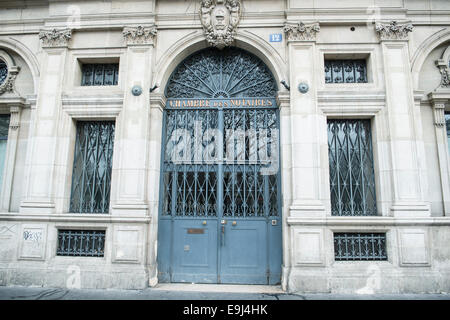
[[[315,85],[315,41],[319,30],[318,23],[284,26],[290,68],[291,216],[325,215],[320,169],[321,149],[327,142],[321,133],[324,117],[318,110]],[[309,87],[307,92],[300,92],[301,83]]]

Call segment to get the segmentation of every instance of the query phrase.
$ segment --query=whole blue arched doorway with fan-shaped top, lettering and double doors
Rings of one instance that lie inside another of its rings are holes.
[[[181,62],[166,86],[160,282],[277,284],[281,194],[277,85],[238,48]]]

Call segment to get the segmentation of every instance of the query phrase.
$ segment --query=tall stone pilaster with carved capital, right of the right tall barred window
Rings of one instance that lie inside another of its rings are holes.
[[[422,137],[417,130],[414,110],[408,33],[411,24],[377,23],[375,30],[381,41],[386,80],[386,112],[389,135],[384,141],[390,149],[394,216],[430,216],[424,200],[426,181],[421,177],[418,144]]]

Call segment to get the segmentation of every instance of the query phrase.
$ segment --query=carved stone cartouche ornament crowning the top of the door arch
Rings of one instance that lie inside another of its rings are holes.
[[[240,10],[239,0],[202,0],[200,19],[210,45],[223,49],[233,43]]]

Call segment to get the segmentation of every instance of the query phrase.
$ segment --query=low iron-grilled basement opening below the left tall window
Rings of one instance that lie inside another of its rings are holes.
[[[104,230],[58,230],[57,256],[103,257]]]

